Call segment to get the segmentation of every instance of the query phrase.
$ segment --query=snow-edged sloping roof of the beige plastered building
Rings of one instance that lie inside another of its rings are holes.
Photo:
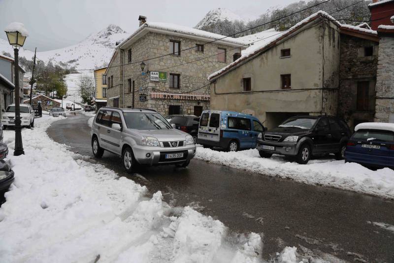
[[[267,50],[272,46],[275,46],[279,39],[290,35],[294,31],[296,31],[298,28],[304,26],[305,24],[307,24],[309,22],[314,21],[315,19],[317,19],[319,17],[324,17],[324,18],[330,20],[332,23],[336,24],[339,28],[345,28],[348,30],[357,31],[359,33],[369,34],[369,35],[373,35],[374,37],[375,36],[377,37],[377,32],[374,30],[364,29],[361,27],[355,27],[355,26],[350,26],[350,25],[342,25],[335,18],[330,16],[327,12],[320,10],[320,11],[308,16],[307,18],[301,20],[296,25],[294,25],[293,27],[291,27],[290,29],[288,29],[286,31],[283,31],[283,32],[272,32],[272,31],[269,32],[268,31],[268,32],[266,32],[266,33],[272,33],[272,35],[268,36],[268,34],[267,34],[266,40],[262,41],[259,44],[254,45],[254,46],[252,45],[252,46],[248,47],[246,50],[244,50],[242,52],[242,55],[239,59],[235,60],[234,62],[230,63],[226,67],[220,69],[219,71],[212,73],[211,75],[208,76],[208,79],[211,80],[212,78],[225,73],[226,71],[230,70],[233,67],[240,66],[241,62],[243,62],[247,59],[250,59],[255,55],[260,54],[260,52]],[[248,36],[246,36],[246,37],[248,37]],[[244,38],[246,38],[246,37],[244,37]]]

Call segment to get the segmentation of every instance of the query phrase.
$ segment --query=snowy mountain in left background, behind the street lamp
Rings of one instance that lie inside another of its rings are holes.
[[[45,63],[52,61],[62,67],[75,67],[76,69],[94,69],[106,66],[111,59],[115,43],[129,37],[120,27],[110,24],[98,33],[91,34],[81,42],[68,47],[37,51],[37,58]],[[12,47],[8,41],[0,39],[0,54],[8,52],[13,55]],[[31,60],[34,52],[23,49],[19,50],[19,56]]]

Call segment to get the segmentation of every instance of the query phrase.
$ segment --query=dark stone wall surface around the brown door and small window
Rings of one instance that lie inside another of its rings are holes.
[[[365,57],[364,47],[368,46],[373,46],[373,55]],[[342,117],[351,129],[359,122],[373,121],[378,53],[378,42],[341,34],[338,116]],[[359,81],[369,82],[367,111],[357,109]]]

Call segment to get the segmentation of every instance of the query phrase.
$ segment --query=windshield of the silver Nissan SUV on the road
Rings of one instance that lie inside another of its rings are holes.
[[[129,129],[172,129],[160,113],[123,113],[123,116]]]

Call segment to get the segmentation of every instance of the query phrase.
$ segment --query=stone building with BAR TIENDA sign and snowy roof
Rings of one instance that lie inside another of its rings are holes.
[[[237,58],[244,43],[193,28],[146,22],[143,16],[138,20],[140,27],[117,46],[105,72],[108,106],[150,108],[164,115],[200,115],[209,109],[208,75]],[[220,40],[212,42],[216,39]]]

